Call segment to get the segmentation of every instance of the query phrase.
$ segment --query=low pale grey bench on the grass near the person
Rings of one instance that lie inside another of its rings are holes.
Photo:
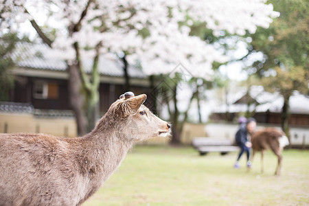
[[[221,155],[227,155],[228,152],[240,150],[238,146],[233,146],[233,142],[229,139],[211,137],[195,137],[192,140],[192,146],[200,152],[200,155],[206,155],[208,152],[220,152]]]

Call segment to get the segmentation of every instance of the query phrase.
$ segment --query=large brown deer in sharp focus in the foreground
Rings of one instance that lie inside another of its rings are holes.
[[[138,141],[167,137],[171,125],[126,92],[82,137],[0,134],[0,205],[81,205]]]

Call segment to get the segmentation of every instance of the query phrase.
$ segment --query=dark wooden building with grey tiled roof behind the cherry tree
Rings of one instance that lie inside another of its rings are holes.
[[[45,44],[18,43],[13,58],[17,61],[12,69],[15,76],[14,89],[10,102],[32,104],[35,109],[69,110],[67,64],[54,55]],[[82,60],[86,73],[93,62]],[[115,58],[100,57],[100,112],[105,113],[109,106],[128,91],[124,86],[122,62]],[[128,67],[130,90],[135,94],[150,93],[148,77],[137,67]]]

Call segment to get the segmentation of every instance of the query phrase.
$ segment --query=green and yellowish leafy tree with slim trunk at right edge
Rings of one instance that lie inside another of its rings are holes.
[[[268,30],[258,28],[249,45],[248,59],[256,52],[263,57],[253,63],[253,75],[260,76],[266,90],[279,91],[284,97],[282,129],[288,133],[289,98],[293,91],[309,93],[309,2],[306,0],[273,0],[280,16]]]

